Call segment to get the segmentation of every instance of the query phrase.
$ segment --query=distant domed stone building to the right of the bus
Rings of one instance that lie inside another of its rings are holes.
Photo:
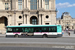
[[[63,30],[66,28],[73,30],[75,28],[75,18],[72,18],[69,12],[64,12],[61,18],[57,18],[57,24],[61,24]]]

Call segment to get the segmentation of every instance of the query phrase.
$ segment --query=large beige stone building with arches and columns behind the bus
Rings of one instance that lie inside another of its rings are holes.
[[[55,0],[0,0],[0,30],[20,24],[56,24]]]

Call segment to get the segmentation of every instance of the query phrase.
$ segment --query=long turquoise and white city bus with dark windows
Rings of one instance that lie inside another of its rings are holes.
[[[62,37],[61,25],[20,25],[7,26],[7,36],[40,36],[40,37]]]

